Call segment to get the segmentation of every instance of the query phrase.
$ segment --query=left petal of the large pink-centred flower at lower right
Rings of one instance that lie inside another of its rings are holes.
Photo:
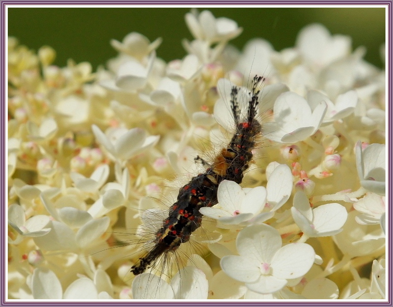
[[[243,281],[255,281],[260,276],[259,261],[242,256],[224,256],[220,261],[221,268],[229,277]]]

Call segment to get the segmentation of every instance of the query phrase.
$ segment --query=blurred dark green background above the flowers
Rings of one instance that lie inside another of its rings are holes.
[[[89,61],[94,69],[115,56],[109,41],[119,41],[132,31],[150,41],[164,39],[157,55],[166,61],[186,55],[181,40],[192,36],[186,27],[185,8],[9,8],[8,35],[38,50],[52,46],[56,65],[68,58]],[[202,11],[204,8],[198,8]],[[333,34],[352,37],[353,49],[365,46],[365,59],[382,67],[380,46],[385,42],[385,8],[208,8],[216,17],[233,19],[243,33],[231,43],[242,49],[255,37],[262,37],[280,51],[294,46],[297,33],[310,23],[321,23]]]

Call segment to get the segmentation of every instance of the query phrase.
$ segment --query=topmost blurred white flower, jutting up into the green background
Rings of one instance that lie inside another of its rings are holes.
[[[195,10],[186,14],[186,24],[196,39],[209,43],[227,41],[238,36],[242,28],[231,19],[215,18],[210,11],[202,11],[198,14]]]

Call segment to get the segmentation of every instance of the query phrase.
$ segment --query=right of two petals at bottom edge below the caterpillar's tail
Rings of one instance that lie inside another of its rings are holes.
[[[170,281],[175,299],[207,299],[209,284],[205,274],[193,266],[181,269]]]

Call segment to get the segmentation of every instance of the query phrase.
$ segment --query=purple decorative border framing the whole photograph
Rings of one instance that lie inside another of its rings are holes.
[[[303,0],[303,1],[290,1],[290,0],[270,0],[270,1],[239,1],[239,0],[215,0],[215,1],[187,1],[185,2],[184,0],[181,1],[113,1],[113,2],[108,2],[108,1],[97,1],[97,0],[84,0],[84,1],[76,1],[76,0],[70,0],[70,1],[54,1],[54,0],[41,0],[41,1],[1,1],[1,200],[2,200],[2,206],[1,206],[1,226],[2,229],[5,230],[5,189],[7,188],[5,183],[6,183],[6,178],[5,178],[5,105],[7,103],[6,98],[5,98],[5,69],[6,69],[6,64],[5,64],[5,39],[6,39],[6,33],[5,33],[5,7],[7,5],[86,5],[86,4],[97,4],[97,5],[124,5],[124,4],[129,4],[129,5],[170,5],[170,4],[182,4],[185,6],[192,6],[192,5],[205,5],[205,6],[211,6],[211,5],[255,5],[255,4],[260,4],[260,5],[273,5],[273,4],[281,4],[281,5],[387,5],[388,6],[388,18],[387,18],[387,36],[388,36],[388,41],[386,42],[386,49],[387,49],[387,61],[386,61],[386,70],[387,70],[387,80],[388,80],[388,97],[387,97],[387,115],[388,115],[388,135],[387,135],[387,140],[388,140],[388,161],[387,161],[387,168],[388,168],[388,187],[387,187],[387,199],[388,199],[388,207],[389,207],[389,215],[387,217],[387,223],[389,225],[392,225],[392,185],[390,184],[392,182],[392,4],[393,0],[386,0],[386,1],[366,1],[366,0],[347,0],[347,1],[316,1],[316,0]],[[6,298],[6,293],[5,293],[5,244],[6,243],[6,236],[5,236],[5,231],[3,235],[1,236],[1,281],[0,284],[1,286],[1,301],[0,301],[0,306],[73,306],[73,307],[79,307],[79,306],[204,306],[204,307],[210,307],[210,306],[335,306],[335,307],[341,307],[341,306],[393,306],[392,304],[392,229],[391,227],[388,228],[389,231],[389,240],[387,241],[387,250],[388,254],[390,257],[387,260],[389,264],[389,269],[390,271],[388,272],[388,284],[390,287],[388,287],[387,291],[387,298],[388,302],[375,302],[375,301],[368,301],[368,302],[357,302],[357,300],[354,300],[354,302],[340,302],[340,301],[331,301],[331,302],[269,302],[269,301],[263,301],[263,302],[225,302],[225,301],[186,301],[186,302],[179,302],[179,301],[170,301],[170,302],[133,302],[133,301],[120,301],[120,300],[114,300],[114,301],[108,301],[108,302],[35,302],[35,301],[30,301],[30,302],[19,302],[15,300],[15,302],[7,302],[5,303],[5,298]],[[337,304],[337,302],[339,304]]]

